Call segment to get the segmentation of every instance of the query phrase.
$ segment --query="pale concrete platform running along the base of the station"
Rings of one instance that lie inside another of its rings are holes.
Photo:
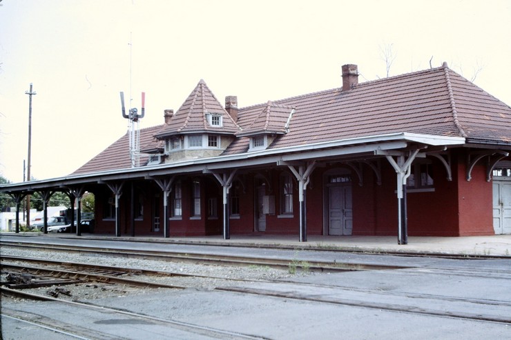
[[[3,232],[0,234],[20,237],[41,236],[35,232]],[[51,233],[46,237],[74,238],[75,234]],[[398,245],[397,237],[393,236],[309,236],[307,242],[298,241],[298,235],[268,235],[268,234],[231,234],[231,239],[224,240],[222,236],[203,237],[169,237],[122,235],[115,237],[104,234],[87,234],[81,239],[110,239],[122,241],[144,241],[157,243],[192,243],[211,244],[216,246],[252,246],[260,248],[298,248],[322,250],[352,250],[358,252],[410,252],[418,254],[459,254],[484,255],[511,258],[511,235],[472,236],[472,237],[408,237],[407,245]]]

